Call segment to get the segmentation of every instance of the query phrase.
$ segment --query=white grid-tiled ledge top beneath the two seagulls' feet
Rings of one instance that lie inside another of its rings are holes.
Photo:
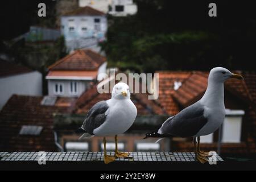
[[[114,152],[108,152],[114,155]],[[118,158],[126,162],[195,162],[194,152],[129,152],[129,158]],[[224,160],[216,154],[217,162]],[[103,152],[0,152],[0,162],[7,161],[39,161],[49,162],[97,162],[103,161]]]

